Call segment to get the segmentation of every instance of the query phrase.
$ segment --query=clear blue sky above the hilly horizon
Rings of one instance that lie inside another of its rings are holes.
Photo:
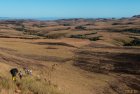
[[[140,0],[0,0],[0,17],[108,18],[140,14]]]

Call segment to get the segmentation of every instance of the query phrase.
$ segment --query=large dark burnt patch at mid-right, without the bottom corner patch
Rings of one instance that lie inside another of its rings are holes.
[[[74,65],[93,72],[117,72],[140,74],[140,54],[96,52],[79,50],[75,52]]]

